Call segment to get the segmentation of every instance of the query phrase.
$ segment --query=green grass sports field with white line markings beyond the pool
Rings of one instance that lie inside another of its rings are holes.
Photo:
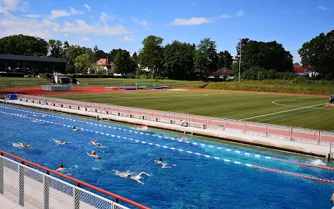
[[[144,91],[52,97],[316,130],[334,130],[334,108],[324,107],[328,102],[328,98],[324,97],[228,91]]]

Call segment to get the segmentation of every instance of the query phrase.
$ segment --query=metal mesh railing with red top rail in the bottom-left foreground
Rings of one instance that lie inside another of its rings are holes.
[[[4,157],[3,155],[11,157],[14,160]],[[45,173],[33,169],[30,166],[45,171]],[[50,176],[50,173],[76,183],[76,186]],[[89,192],[86,189],[80,188],[80,186],[111,196],[115,201]],[[113,194],[112,192],[95,187],[76,178],[66,176],[63,173],[42,167],[39,164],[24,160],[10,153],[6,153],[3,150],[0,150],[0,194],[3,194],[3,196],[6,196],[20,206],[24,206],[24,208],[126,209],[127,207],[118,203],[122,201],[137,208],[148,209],[148,207],[119,196],[118,194]]]

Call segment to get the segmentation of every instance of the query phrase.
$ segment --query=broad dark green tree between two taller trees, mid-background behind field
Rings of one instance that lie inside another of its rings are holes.
[[[164,49],[164,76],[170,79],[189,79],[193,72],[193,46],[173,41]]]

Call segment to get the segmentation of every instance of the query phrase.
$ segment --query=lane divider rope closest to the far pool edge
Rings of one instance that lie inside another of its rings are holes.
[[[0,107],[3,107],[3,106],[0,105]],[[201,143],[197,143],[197,142],[183,141],[183,140],[175,139],[175,138],[172,138],[172,137],[160,136],[160,135],[149,134],[149,133],[144,133],[144,132],[137,132],[135,130],[127,130],[125,128],[113,127],[113,126],[110,126],[110,125],[101,125],[101,124],[97,124],[97,123],[79,121],[79,120],[75,120],[75,119],[72,119],[72,118],[65,118],[65,117],[62,117],[62,116],[54,116],[54,115],[50,115],[50,114],[41,114],[39,112],[27,111],[27,110],[24,110],[24,109],[16,109],[16,108],[12,108],[12,107],[3,107],[3,108],[18,110],[18,111],[24,111],[24,112],[28,112],[28,113],[32,113],[32,114],[40,114],[40,115],[43,115],[43,116],[51,116],[53,118],[59,118],[59,119],[68,120],[68,121],[74,121],[74,122],[77,121],[78,123],[86,123],[88,125],[106,127],[106,128],[113,129],[113,130],[122,130],[122,131],[126,131],[126,132],[131,132],[131,133],[134,133],[134,134],[142,134],[142,135],[157,137],[157,138],[161,138],[161,139],[171,139],[173,141],[179,141],[179,142],[183,142],[183,143],[186,143],[186,144],[192,144],[194,146],[216,148],[218,150],[223,150],[223,151],[227,151],[227,152],[230,152],[230,153],[236,153],[236,154],[246,155],[246,156],[255,157],[255,158],[271,159],[271,160],[277,160],[277,161],[282,161],[282,162],[289,162],[289,163],[292,163],[292,164],[298,164],[298,165],[305,166],[305,167],[313,167],[313,168],[317,168],[317,169],[325,169],[325,170],[329,170],[329,171],[334,171],[334,168],[331,168],[331,167],[318,166],[318,165],[313,165],[313,164],[308,164],[308,163],[303,163],[303,162],[296,162],[296,161],[292,161],[292,160],[285,160],[285,159],[276,158],[276,157],[269,157],[269,156],[266,156],[266,155],[257,155],[257,154],[253,154],[253,153],[247,153],[247,152],[244,152],[244,151],[240,151],[240,150],[235,150],[235,149],[232,149],[230,147],[223,148],[222,146],[212,146],[212,145],[201,144]]]

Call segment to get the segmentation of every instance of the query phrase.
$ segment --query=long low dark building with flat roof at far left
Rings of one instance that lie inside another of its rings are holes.
[[[48,56],[0,54],[0,72],[16,72],[24,73],[24,75],[52,72],[65,73],[66,62],[66,59]]]

